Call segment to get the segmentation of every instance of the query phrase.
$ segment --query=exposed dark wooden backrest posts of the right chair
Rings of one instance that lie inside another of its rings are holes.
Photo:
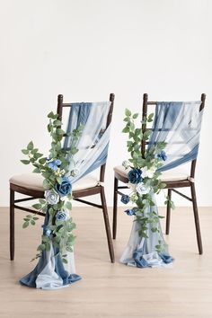
[[[199,106],[199,111],[203,110],[205,107],[205,101],[206,101],[206,94],[205,93],[201,94],[200,101],[201,101],[201,103]],[[157,102],[148,101],[148,94],[144,93],[144,95],[143,95],[143,108],[142,108],[142,120],[144,120],[146,118],[146,116],[148,115],[148,106],[150,106],[150,105],[156,106],[156,104],[157,104]],[[192,106],[190,106],[190,107],[192,107]],[[144,133],[146,130],[149,130],[149,129],[151,129],[151,128],[146,128],[146,123],[144,122],[142,124],[142,132]],[[148,145],[148,142],[143,140],[142,145],[141,145],[141,153],[143,156],[145,155],[146,145]],[[190,177],[191,178],[194,178],[196,163],[197,163],[197,159],[191,161],[191,164],[190,164]]]

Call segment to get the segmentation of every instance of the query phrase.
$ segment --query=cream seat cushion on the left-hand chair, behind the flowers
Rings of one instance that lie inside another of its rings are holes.
[[[14,175],[10,183],[25,189],[43,191],[43,177],[40,173],[24,173]],[[73,184],[73,191],[90,189],[98,185],[98,180],[88,175]]]

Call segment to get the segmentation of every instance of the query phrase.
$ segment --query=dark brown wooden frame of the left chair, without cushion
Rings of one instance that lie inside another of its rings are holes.
[[[110,125],[110,122],[112,119],[114,99],[115,99],[115,95],[113,93],[110,93],[110,110],[109,110],[109,114],[108,114],[108,118],[107,118],[106,128]],[[58,118],[62,120],[63,109],[65,107],[70,108],[71,106],[72,106],[71,103],[63,102],[63,95],[59,94],[57,96]],[[104,217],[104,225],[105,225],[108,247],[109,247],[109,252],[110,252],[110,261],[114,262],[115,256],[114,256],[112,238],[111,238],[111,233],[110,233],[110,222],[109,222],[109,216],[108,216],[108,209],[107,209],[107,204],[106,204],[106,199],[105,199],[104,187],[102,185],[102,182],[104,182],[105,167],[106,167],[106,163],[102,164],[102,166],[100,168],[100,185],[96,185],[93,188],[89,188],[89,189],[85,189],[85,190],[75,190],[75,191],[73,191],[73,197],[76,201],[83,202],[83,203],[88,204],[90,206],[93,206],[95,208],[102,208],[103,217]],[[24,194],[24,195],[27,195],[30,197],[24,198],[24,199],[14,199],[15,192],[18,192],[18,193],[21,193],[21,194]],[[94,194],[100,194],[102,204],[99,205],[99,204],[95,204],[93,202],[81,199],[83,197],[93,196]],[[13,259],[14,259],[14,208],[18,208],[20,210],[30,212],[30,213],[35,213],[35,211],[32,210],[31,208],[25,208],[25,207],[19,206],[19,205],[17,205],[17,203],[28,201],[31,199],[41,199],[41,198],[44,198],[44,191],[26,189],[26,188],[17,186],[17,185],[10,182],[10,258],[11,258],[11,261],[13,261]],[[37,214],[40,216],[45,216],[45,214],[42,212],[39,212]]]

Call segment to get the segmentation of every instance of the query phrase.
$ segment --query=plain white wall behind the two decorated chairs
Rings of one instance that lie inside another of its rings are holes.
[[[127,157],[126,107],[151,100],[196,100],[207,93],[197,169],[200,206],[211,206],[212,2],[207,0],[0,0],[0,206],[8,206],[10,176],[33,139],[47,152],[46,114],[66,102],[116,94],[107,166]],[[185,200],[174,199],[179,205]],[[163,203],[163,200],[159,200]]]

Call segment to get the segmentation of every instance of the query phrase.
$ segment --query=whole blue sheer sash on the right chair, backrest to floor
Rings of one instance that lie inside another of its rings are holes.
[[[157,142],[167,143],[164,149],[167,160],[158,171],[170,170],[197,158],[203,115],[203,110],[199,110],[200,104],[201,102],[157,102],[148,147]],[[146,208],[145,214],[148,215],[153,211],[158,214],[155,195],[150,194],[155,206]],[[133,222],[128,245],[120,261],[141,268],[167,266],[166,264],[172,263],[173,259],[163,239],[161,226],[158,227],[159,232],[153,233],[151,225],[147,225],[148,238],[141,238],[138,234],[140,225],[137,221]],[[155,245],[159,242],[163,246],[161,252],[155,249]]]

